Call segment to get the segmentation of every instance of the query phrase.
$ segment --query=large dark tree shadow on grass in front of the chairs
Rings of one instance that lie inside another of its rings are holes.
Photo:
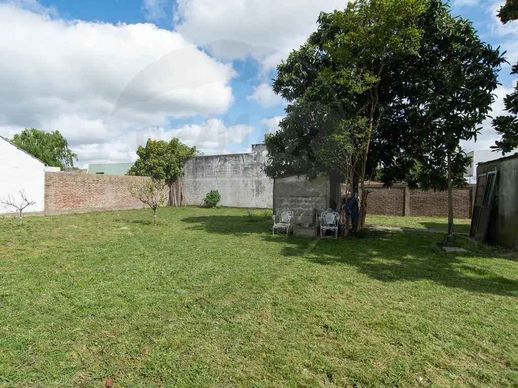
[[[316,245],[304,238],[264,238],[284,244],[281,253],[286,257],[302,256],[321,265],[353,266],[359,273],[379,281],[430,280],[470,292],[518,296],[518,280],[474,265],[463,256],[443,252],[433,237],[423,238],[416,232],[372,231],[361,240],[324,240]],[[491,253],[470,249],[465,257],[501,260]]]

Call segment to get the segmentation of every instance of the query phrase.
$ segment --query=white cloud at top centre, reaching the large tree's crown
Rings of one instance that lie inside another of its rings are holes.
[[[303,44],[321,11],[343,9],[347,0],[177,0],[176,30],[221,58],[252,55],[264,69]]]

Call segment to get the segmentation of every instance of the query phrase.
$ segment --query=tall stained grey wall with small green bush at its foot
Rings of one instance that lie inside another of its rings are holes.
[[[252,145],[250,154],[198,156],[185,163],[183,187],[188,205],[200,205],[207,193],[218,190],[227,207],[273,207],[274,181],[261,171],[266,146]]]

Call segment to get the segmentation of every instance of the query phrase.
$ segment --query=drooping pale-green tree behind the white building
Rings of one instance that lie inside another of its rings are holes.
[[[74,167],[74,160],[78,160],[77,155],[68,147],[67,140],[58,131],[45,132],[36,128],[25,128],[11,142],[46,165],[59,167],[61,170]]]

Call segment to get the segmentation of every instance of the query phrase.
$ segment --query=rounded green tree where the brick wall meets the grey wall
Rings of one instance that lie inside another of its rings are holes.
[[[176,192],[177,181],[178,190],[181,192],[185,161],[192,156],[201,155],[196,147],[189,147],[177,138],[170,142],[148,139],[145,147],[138,147],[137,155],[138,159],[127,175],[151,176],[153,180],[165,180],[170,188],[169,204],[182,204],[184,196],[180,195],[180,203],[177,203],[176,196],[172,193]]]

